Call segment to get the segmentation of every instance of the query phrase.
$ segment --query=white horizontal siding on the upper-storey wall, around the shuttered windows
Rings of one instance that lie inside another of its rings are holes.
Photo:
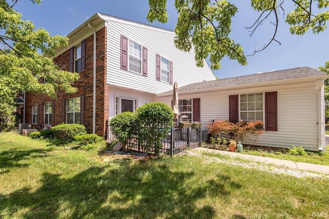
[[[196,67],[192,50],[186,53],[175,47],[174,32],[113,17],[102,18],[107,20],[107,84],[153,94],[172,89],[169,83],[156,81],[157,53],[173,62],[173,82],[177,82],[180,87],[203,82],[204,79],[216,79],[206,61],[203,68]],[[120,69],[121,34],[148,48],[147,77]]]

